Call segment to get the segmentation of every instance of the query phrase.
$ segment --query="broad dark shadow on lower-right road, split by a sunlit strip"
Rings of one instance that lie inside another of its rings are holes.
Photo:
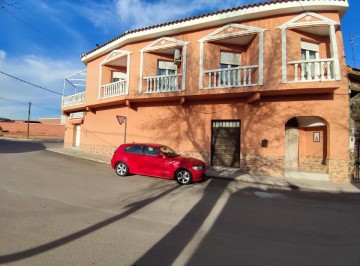
[[[233,190],[232,183],[210,180],[133,265],[359,265],[358,193]]]

